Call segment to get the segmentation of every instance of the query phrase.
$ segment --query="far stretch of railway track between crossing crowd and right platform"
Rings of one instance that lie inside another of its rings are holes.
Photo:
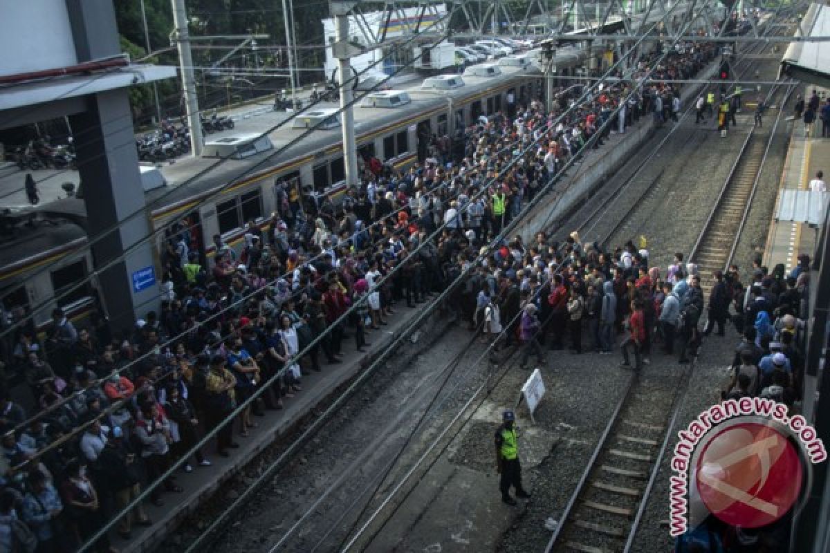
[[[792,85],[775,86],[769,91],[766,99],[767,105],[779,96],[783,106],[792,90]],[[782,92],[783,95],[779,95]],[[715,209],[710,213],[691,250],[689,259],[698,266],[705,298],[709,297],[714,284],[715,271],[727,269],[735,255],[735,249],[749,214],[749,207],[752,206],[761,172],[764,169],[767,153],[775,137],[775,129],[783,113],[784,109],[778,110],[775,123],[768,133],[761,133],[757,127],[749,131],[729,177],[720,189]]]

